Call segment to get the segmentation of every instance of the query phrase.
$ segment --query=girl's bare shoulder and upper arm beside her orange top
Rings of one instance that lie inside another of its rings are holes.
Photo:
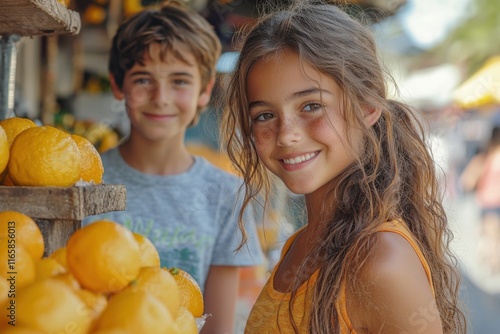
[[[348,290],[358,332],[442,333],[430,283],[417,253],[401,235],[379,232],[361,270],[357,293]]]

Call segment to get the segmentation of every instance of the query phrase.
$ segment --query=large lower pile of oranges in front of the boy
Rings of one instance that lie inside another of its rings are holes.
[[[8,312],[0,332],[198,333],[200,287],[187,272],[162,268],[147,237],[100,220],[43,252],[36,222],[0,212],[0,308]]]

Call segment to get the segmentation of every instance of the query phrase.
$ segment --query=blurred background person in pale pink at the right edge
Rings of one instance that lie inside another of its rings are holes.
[[[492,129],[485,150],[471,159],[460,182],[464,191],[475,192],[481,210],[479,260],[500,273],[500,127]]]

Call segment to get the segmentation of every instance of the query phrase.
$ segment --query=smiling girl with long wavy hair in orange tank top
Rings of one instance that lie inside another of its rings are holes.
[[[370,32],[298,1],[250,30],[229,87],[245,203],[269,194],[269,171],[307,208],[245,332],[464,333],[433,161],[413,111],[387,98]]]

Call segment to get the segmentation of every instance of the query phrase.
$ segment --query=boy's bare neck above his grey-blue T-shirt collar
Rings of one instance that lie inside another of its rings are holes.
[[[193,156],[183,143],[179,145],[163,143],[138,145],[129,139],[120,145],[119,152],[122,159],[130,167],[144,174],[181,174],[194,164]]]

